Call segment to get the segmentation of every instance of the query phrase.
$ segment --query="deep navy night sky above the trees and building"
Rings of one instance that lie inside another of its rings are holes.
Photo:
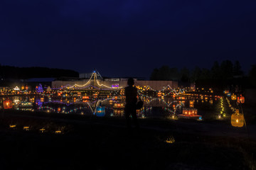
[[[164,64],[256,64],[256,1],[8,0],[0,22],[4,65],[149,77]]]

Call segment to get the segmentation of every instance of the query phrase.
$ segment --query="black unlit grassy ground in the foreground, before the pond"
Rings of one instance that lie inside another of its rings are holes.
[[[11,123],[16,129],[9,128]],[[174,122],[165,120],[141,120],[139,131],[127,130],[124,123],[122,118],[6,112],[0,118],[1,167],[255,169],[253,140],[186,132],[177,129]],[[198,122],[183,122],[188,128],[191,123]],[[23,130],[26,125],[31,130]],[[48,132],[38,131],[43,127]],[[63,134],[53,133],[60,128]],[[169,137],[175,142],[167,143]]]

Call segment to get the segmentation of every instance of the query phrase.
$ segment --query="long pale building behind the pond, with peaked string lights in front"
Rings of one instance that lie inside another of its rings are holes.
[[[98,73],[92,72],[90,79],[82,81],[76,80],[56,80],[52,82],[53,90],[90,90],[95,91],[119,91],[127,86],[127,79],[98,79]],[[144,91],[154,91],[167,95],[170,93],[180,94],[183,90],[178,89],[177,81],[141,81],[135,79],[135,86],[139,93]],[[159,94],[160,95],[160,94]]]

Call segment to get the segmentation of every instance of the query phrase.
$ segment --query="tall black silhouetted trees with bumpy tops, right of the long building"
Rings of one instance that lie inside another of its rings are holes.
[[[196,83],[197,86],[209,86],[223,88],[225,86],[240,84],[241,86],[256,86],[256,65],[252,65],[252,69],[248,76],[242,72],[240,62],[234,63],[230,60],[225,60],[220,64],[213,63],[211,69],[195,67],[187,69],[184,67],[181,70],[162,66],[159,69],[154,69],[151,73],[151,80],[176,80],[181,84]]]

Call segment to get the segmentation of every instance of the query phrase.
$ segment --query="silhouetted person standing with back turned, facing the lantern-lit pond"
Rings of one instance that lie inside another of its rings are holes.
[[[129,78],[127,81],[128,86],[124,88],[124,95],[126,98],[126,104],[124,108],[124,115],[127,121],[127,128],[131,128],[131,118],[134,120],[136,128],[139,128],[137,113],[136,113],[136,103],[137,103],[137,89],[134,87],[134,79]]]

